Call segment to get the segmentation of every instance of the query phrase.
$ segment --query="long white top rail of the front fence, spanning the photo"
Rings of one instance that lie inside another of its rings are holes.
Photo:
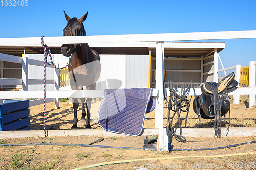
[[[164,42],[215,39],[256,38],[256,30],[248,31],[219,31],[194,33],[167,34],[131,34],[131,35],[97,35],[97,36],[65,36],[44,37],[44,43],[75,44],[75,43],[111,43],[111,42]],[[1,38],[0,46],[41,46],[41,37],[29,38]]]

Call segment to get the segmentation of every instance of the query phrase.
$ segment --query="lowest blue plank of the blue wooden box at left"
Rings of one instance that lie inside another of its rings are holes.
[[[9,124],[4,124],[3,126],[1,125],[1,129],[3,131],[17,130],[19,128],[23,128],[28,125],[30,125],[30,117],[19,119],[15,122],[11,122]]]

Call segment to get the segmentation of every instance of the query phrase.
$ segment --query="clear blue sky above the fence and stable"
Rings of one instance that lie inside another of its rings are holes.
[[[28,6],[0,2],[0,38],[62,36],[66,19],[84,21],[87,35],[153,34],[256,30],[256,1],[36,1]],[[16,0],[17,1],[17,0]],[[256,39],[209,40],[226,42],[220,52],[224,67],[248,66],[256,60]]]

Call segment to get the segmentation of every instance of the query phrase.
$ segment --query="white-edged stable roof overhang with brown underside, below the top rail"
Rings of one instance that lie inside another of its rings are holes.
[[[89,46],[99,54],[126,54],[156,56],[155,42],[118,42],[118,43],[89,43]],[[61,44],[49,45],[52,54],[61,54]],[[220,52],[225,48],[225,42],[165,42],[164,57],[194,58],[208,56],[214,53],[214,49]],[[26,54],[44,54],[44,48],[40,45],[30,46],[3,46],[0,45],[0,53],[21,56]]]

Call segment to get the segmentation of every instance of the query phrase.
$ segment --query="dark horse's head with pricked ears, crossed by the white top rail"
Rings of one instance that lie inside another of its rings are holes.
[[[67,26],[63,30],[63,36],[80,36],[86,35],[86,31],[84,30],[83,21],[86,20],[88,12],[83,15],[80,19],[72,18],[65,13],[66,20],[68,21]],[[77,44],[63,44],[61,46],[61,53],[64,56],[69,57],[76,51]]]

